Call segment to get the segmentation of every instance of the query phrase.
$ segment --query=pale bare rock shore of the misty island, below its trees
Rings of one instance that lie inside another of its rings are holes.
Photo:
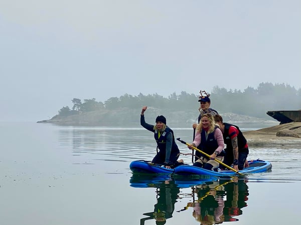
[[[58,125],[100,125],[100,126],[139,126],[141,109],[119,108],[115,110],[98,110],[85,112],[76,115],[59,116],[55,115],[51,119],[37,121],[38,123],[54,123]],[[167,118],[167,125],[170,127],[190,127],[197,122],[199,112],[197,110],[174,111],[165,109],[164,113],[159,108],[149,108],[145,113],[145,120],[150,124],[155,123],[155,118],[163,114]],[[257,118],[249,115],[241,115],[231,112],[220,113],[225,122],[233,124],[241,123],[261,123],[275,124],[277,121],[266,118]]]

